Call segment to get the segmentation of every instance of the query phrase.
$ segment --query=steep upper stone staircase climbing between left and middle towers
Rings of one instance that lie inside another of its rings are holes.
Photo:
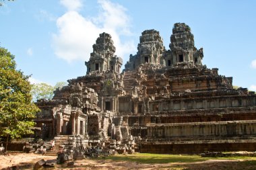
[[[131,71],[126,71],[125,76],[123,77],[123,85],[124,90],[127,92],[132,91],[133,87],[139,85],[136,79],[136,75],[132,73]]]

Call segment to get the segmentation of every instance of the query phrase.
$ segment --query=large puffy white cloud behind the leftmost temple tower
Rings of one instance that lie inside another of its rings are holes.
[[[77,11],[67,11],[57,19],[58,34],[53,34],[53,48],[59,58],[68,62],[89,60],[92,45],[102,32],[112,36],[118,56],[129,57],[135,52],[133,40],[121,41],[120,36],[131,36],[130,19],[126,9],[108,0],[98,1],[96,17],[84,17]]]

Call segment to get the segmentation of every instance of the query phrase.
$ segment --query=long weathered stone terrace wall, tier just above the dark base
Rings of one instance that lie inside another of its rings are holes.
[[[148,137],[243,136],[256,134],[256,120],[148,124]]]

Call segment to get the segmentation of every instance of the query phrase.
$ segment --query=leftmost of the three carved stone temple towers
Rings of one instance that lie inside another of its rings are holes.
[[[100,34],[92,48],[90,60],[86,62],[87,75],[102,71],[119,73],[123,60],[115,55],[116,48],[110,34],[105,32]]]

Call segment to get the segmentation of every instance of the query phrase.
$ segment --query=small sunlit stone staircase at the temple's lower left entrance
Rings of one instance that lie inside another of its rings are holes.
[[[45,155],[48,156],[57,156],[59,151],[61,151],[61,148],[63,148],[63,145],[65,145],[65,142],[67,142],[67,139],[69,138],[69,135],[58,135],[55,136],[55,146],[53,147],[53,150],[47,151]]]

